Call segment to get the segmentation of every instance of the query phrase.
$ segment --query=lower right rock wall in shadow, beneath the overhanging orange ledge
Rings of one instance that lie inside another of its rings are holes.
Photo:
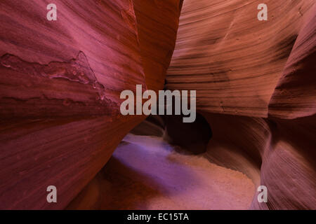
[[[315,116],[296,120],[205,114],[212,127],[206,157],[267,186],[268,203],[251,209],[315,209]]]

